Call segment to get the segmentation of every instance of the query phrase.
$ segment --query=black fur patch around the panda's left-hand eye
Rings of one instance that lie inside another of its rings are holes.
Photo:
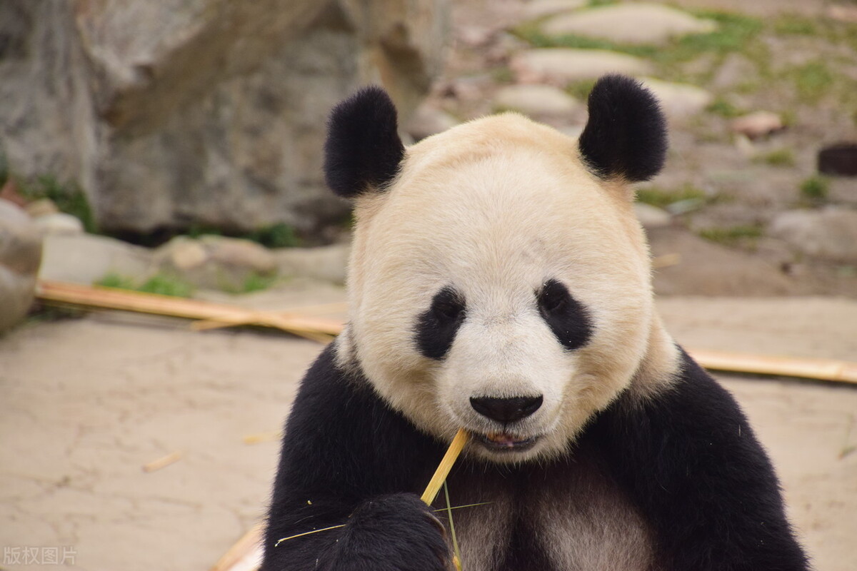
[[[464,323],[464,297],[450,287],[442,288],[431,306],[417,320],[417,348],[428,359],[446,357],[458,328]]]

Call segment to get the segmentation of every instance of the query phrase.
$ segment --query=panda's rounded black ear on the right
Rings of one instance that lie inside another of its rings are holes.
[[[648,181],[667,154],[667,122],[657,99],[636,80],[605,75],[592,88],[580,152],[602,179]]]

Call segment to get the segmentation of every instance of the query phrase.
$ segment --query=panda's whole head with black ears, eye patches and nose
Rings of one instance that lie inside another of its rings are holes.
[[[491,461],[561,453],[674,360],[628,187],[662,168],[661,111],[615,75],[589,110],[579,140],[503,114],[405,149],[370,87],[329,122],[327,181],[356,218],[339,363],[420,430],[464,426]]]

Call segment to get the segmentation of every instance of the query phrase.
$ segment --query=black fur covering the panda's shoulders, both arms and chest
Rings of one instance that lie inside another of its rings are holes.
[[[551,546],[539,542],[527,519],[538,494],[554,491],[579,503],[591,485],[605,483],[619,486],[650,522],[656,568],[807,569],[770,461],[744,415],[684,359],[674,389],[645,403],[621,396],[564,458],[516,467],[458,461],[448,479],[453,505],[491,491],[511,502],[512,535],[492,546],[498,569],[554,571]],[[327,348],[286,424],[262,571],[448,569],[445,533],[416,497],[444,449],[387,407],[362,375],[339,371]],[[345,527],[274,546],[339,524]]]

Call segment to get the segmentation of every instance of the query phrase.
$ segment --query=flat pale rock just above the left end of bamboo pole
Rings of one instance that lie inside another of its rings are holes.
[[[142,281],[151,273],[147,248],[92,234],[45,236],[42,279],[90,285],[108,274]]]

